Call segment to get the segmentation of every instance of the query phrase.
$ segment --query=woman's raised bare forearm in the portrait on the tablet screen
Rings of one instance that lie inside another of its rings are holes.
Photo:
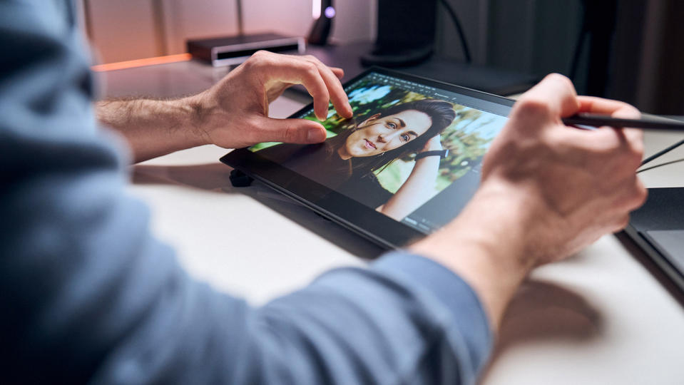
[[[419,159],[409,178],[380,209],[384,215],[402,220],[434,195],[434,182],[439,172],[439,157]]]

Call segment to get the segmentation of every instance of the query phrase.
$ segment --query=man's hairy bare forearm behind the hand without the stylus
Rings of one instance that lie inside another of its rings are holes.
[[[203,111],[193,97],[112,99],[96,105],[98,120],[122,133],[136,163],[210,143],[203,131]]]

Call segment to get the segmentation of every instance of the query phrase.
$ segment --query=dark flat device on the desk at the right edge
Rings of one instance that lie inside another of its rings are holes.
[[[684,292],[684,188],[649,188],[625,232]]]

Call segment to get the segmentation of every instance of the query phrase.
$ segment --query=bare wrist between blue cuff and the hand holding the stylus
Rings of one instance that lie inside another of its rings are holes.
[[[518,194],[519,196],[515,196]],[[533,267],[526,258],[531,200],[501,183],[483,185],[449,225],[410,248],[463,277],[484,304],[497,330],[507,304]]]

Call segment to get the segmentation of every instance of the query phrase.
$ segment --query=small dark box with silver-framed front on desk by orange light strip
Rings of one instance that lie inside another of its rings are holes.
[[[247,60],[256,51],[304,53],[302,37],[279,34],[250,34],[187,41],[188,53],[193,58],[208,61],[212,66],[230,66]]]

